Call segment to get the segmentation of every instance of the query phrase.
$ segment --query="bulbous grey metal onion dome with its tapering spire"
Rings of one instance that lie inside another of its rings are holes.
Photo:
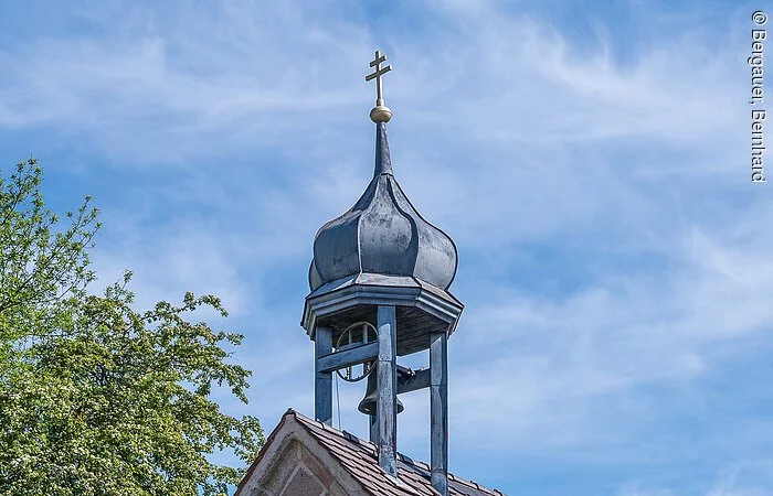
[[[385,72],[374,74],[379,71]],[[378,88],[370,114],[375,122],[373,179],[354,206],[317,233],[309,268],[311,291],[359,273],[412,277],[446,290],[456,273],[454,241],[419,214],[394,179],[386,140],[392,111],[383,105],[380,84]]]

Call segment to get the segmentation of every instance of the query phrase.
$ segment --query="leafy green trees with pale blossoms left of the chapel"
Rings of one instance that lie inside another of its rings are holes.
[[[215,495],[264,442],[257,419],[223,413],[213,385],[246,402],[250,371],[186,314],[218,298],[133,310],[130,273],[102,295],[88,250],[99,229],[89,198],[68,225],[45,208],[34,160],[0,174],[0,494]]]

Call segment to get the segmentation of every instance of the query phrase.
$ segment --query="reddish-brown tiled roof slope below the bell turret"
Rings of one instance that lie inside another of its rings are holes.
[[[375,445],[346,431],[311,420],[290,409],[293,416],[335,457],[362,487],[374,496],[437,496],[430,484],[430,466],[402,454],[398,455],[400,482],[388,476],[379,466]],[[284,423],[284,418],[283,422]],[[448,474],[451,496],[502,496],[497,489],[488,489],[478,483]]]

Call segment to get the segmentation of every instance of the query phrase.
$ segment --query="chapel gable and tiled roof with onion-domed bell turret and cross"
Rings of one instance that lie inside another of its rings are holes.
[[[504,496],[448,473],[448,337],[464,305],[449,292],[456,246],[426,222],[394,179],[386,141],[392,111],[382,77],[392,67],[375,52],[375,166],[349,211],[314,239],[301,325],[314,341],[314,419],[288,409],[234,496]],[[398,358],[428,351],[412,370]],[[370,442],[332,427],[333,375],[367,379],[358,410]],[[431,461],[398,452],[399,395],[430,393]]]

